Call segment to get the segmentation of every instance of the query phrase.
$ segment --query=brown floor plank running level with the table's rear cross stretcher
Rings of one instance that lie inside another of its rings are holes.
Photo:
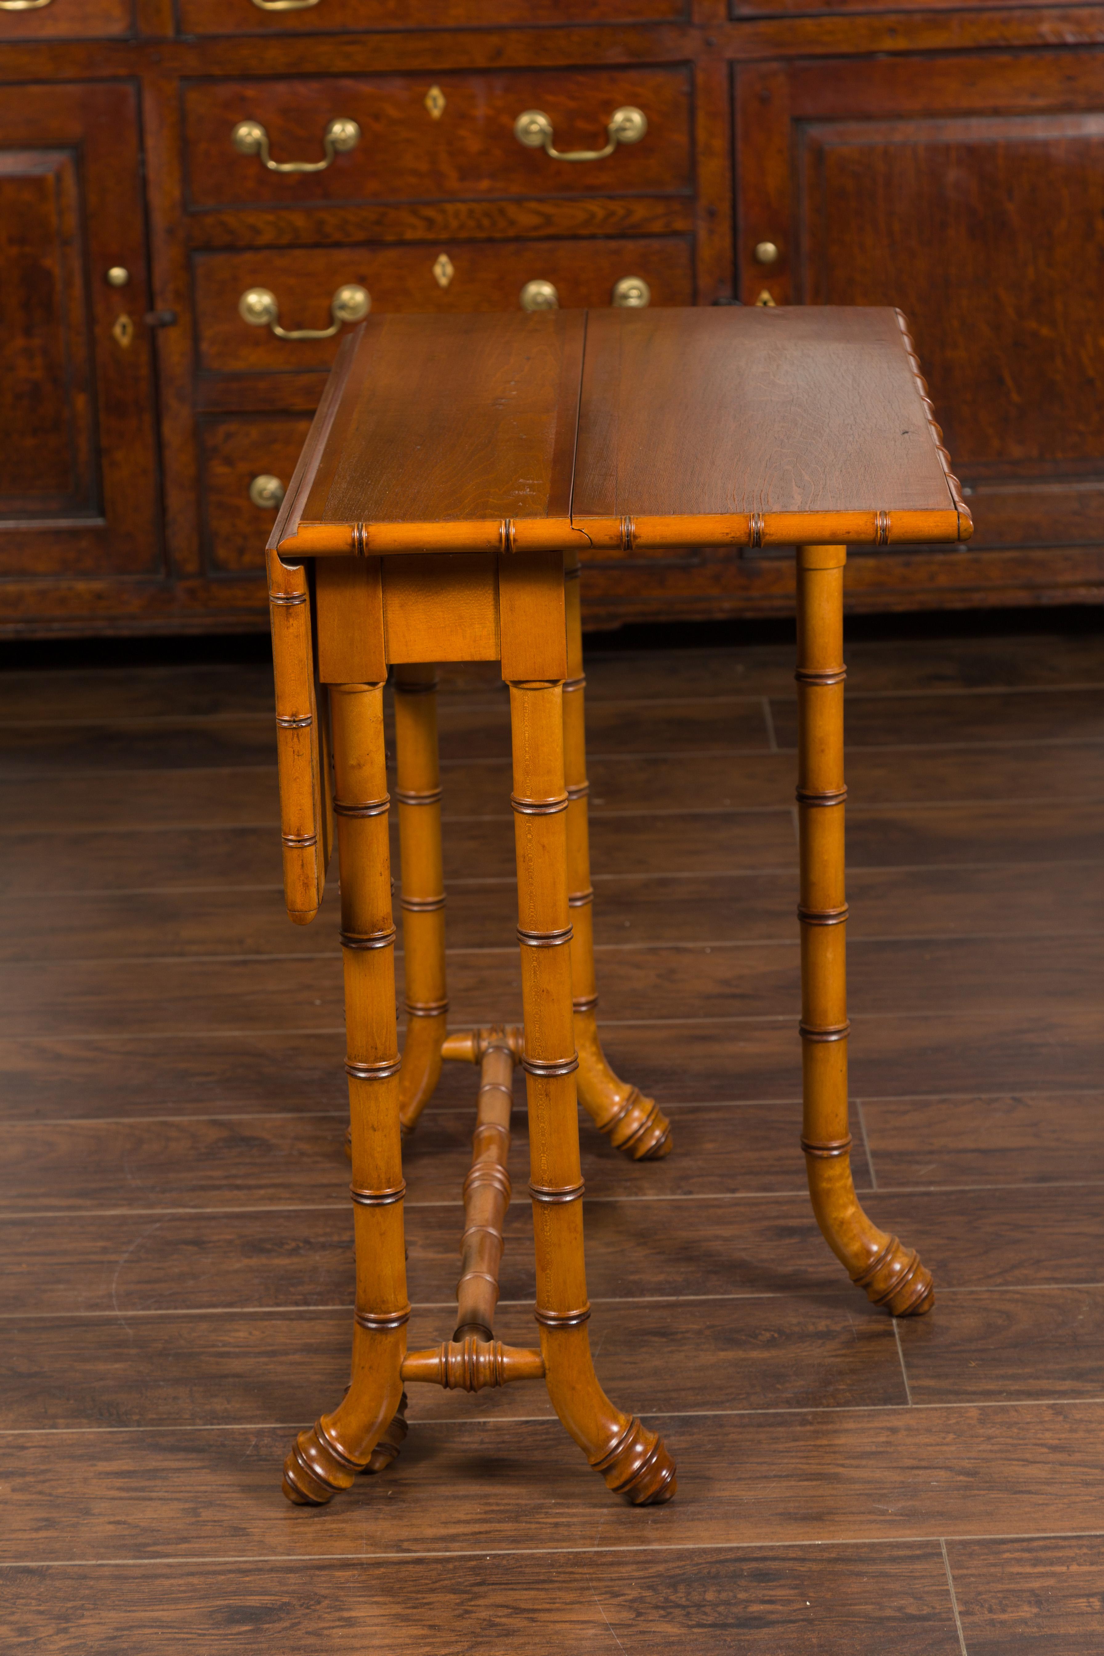
[[[606,1055],[660,1103],[794,1100],[796,1022],[733,1018],[599,1022]],[[851,1086],[859,1098],[1084,1091],[1104,1073],[1104,1028],[1087,1012],[942,1012],[852,1017]],[[0,1040],[8,1119],[344,1110],[344,1037],[311,1032],[159,1037],[46,1035]],[[439,1103],[468,1108],[470,1078],[449,1066]],[[437,1103],[437,1101],[435,1101]],[[430,1110],[435,1105],[430,1105]]]

